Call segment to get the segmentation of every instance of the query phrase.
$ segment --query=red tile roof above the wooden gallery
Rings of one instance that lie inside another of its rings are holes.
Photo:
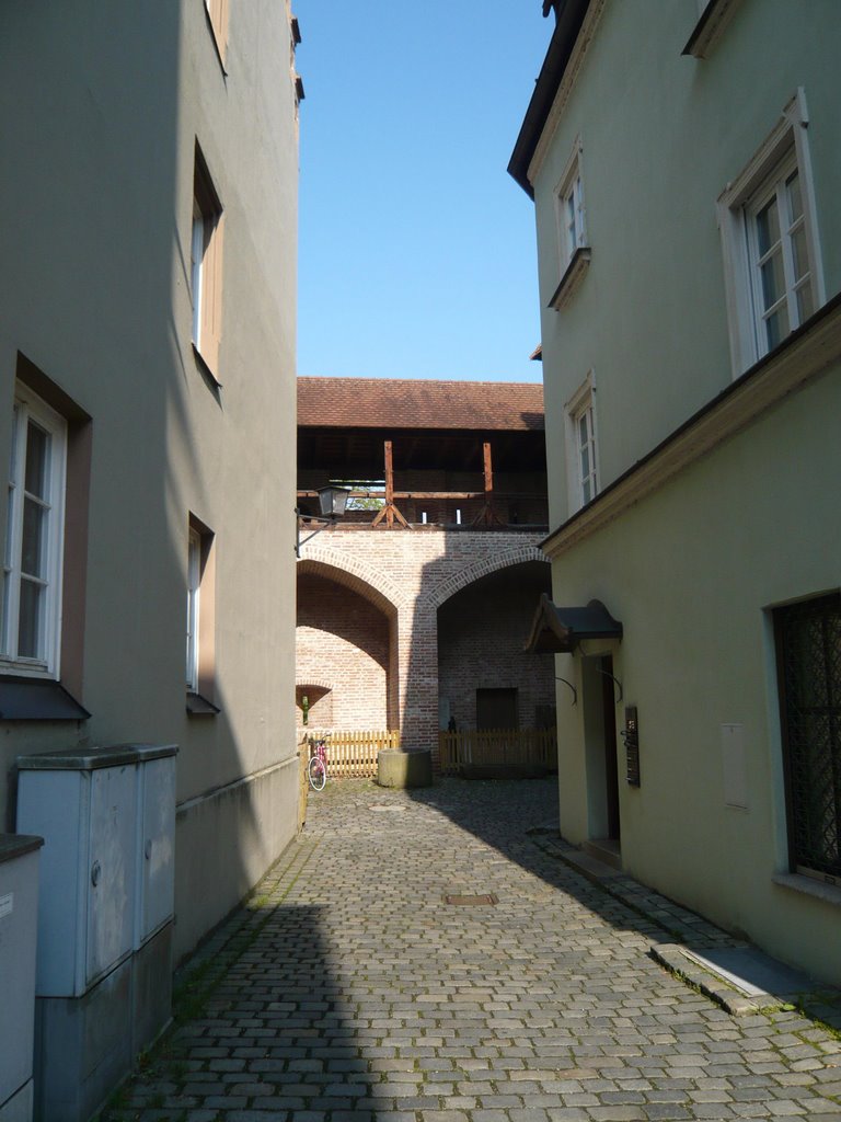
[[[528,381],[298,378],[298,424],[542,431],[543,386]]]

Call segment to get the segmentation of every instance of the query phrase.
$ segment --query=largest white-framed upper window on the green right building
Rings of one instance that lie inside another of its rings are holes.
[[[824,302],[803,91],[719,199],[733,375]]]

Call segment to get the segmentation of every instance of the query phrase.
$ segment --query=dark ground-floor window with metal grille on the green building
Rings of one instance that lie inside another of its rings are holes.
[[[774,619],[792,870],[841,883],[841,595]]]

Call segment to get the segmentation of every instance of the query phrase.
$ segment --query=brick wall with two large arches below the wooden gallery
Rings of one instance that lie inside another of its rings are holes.
[[[447,532],[434,526],[408,531],[338,526],[320,534],[302,549],[298,562],[298,688],[307,675],[324,682],[332,674],[333,727],[341,727],[345,717],[353,720],[345,727],[373,727],[377,714],[378,727],[400,728],[404,747],[435,749],[440,622],[445,632],[442,659],[447,689],[458,684],[452,643],[463,643],[461,656],[477,673],[483,649],[505,646],[512,661],[528,633],[537,585],[543,581],[540,587],[548,588],[549,567],[537,550],[542,536],[534,531]],[[545,578],[537,578],[538,570]],[[491,580],[484,586],[490,601],[482,608],[482,587],[477,582],[503,571],[510,571],[507,589],[518,587],[518,572],[524,588],[516,596],[500,597]],[[474,637],[462,640],[460,601],[444,607],[441,616],[438,609],[473,585],[475,595],[464,606],[471,620],[468,634]],[[349,592],[354,597],[350,601]],[[502,611],[500,599],[507,601]],[[497,623],[481,623],[483,614],[489,618],[496,614]],[[521,683],[517,688],[524,691],[524,718],[542,703],[538,698],[551,700],[552,666],[547,657],[530,666],[524,662],[517,671],[514,684]],[[536,679],[532,684],[530,675]],[[459,690],[462,696],[469,691],[466,672]],[[368,719],[362,721],[362,714]],[[469,725],[471,718],[464,721]]]

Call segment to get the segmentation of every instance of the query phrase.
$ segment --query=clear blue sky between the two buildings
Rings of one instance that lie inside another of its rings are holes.
[[[295,0],[298,373],[539,381],[534,208],[506,172],[540,0]]]

